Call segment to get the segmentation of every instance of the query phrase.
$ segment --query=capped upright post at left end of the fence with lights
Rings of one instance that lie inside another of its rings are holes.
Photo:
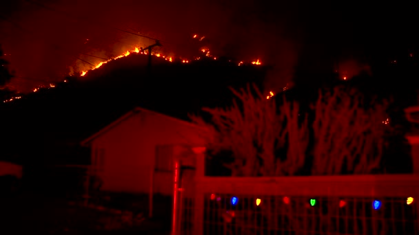
[[[204,195],[201,179],[205,176],[205,147],[192,148],[196,154],[194,235],[203,234]]]

